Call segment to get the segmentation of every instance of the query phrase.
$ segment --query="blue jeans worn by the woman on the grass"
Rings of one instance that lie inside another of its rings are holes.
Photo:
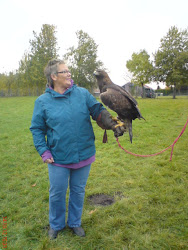
[[[90,165],[79,169],[69,169],[48,164],[50,180],[49,222],[54,230],[66,226],[66,193],[69,184],[68,219],[69,227],[81,226],[85,186],[89,176]]]

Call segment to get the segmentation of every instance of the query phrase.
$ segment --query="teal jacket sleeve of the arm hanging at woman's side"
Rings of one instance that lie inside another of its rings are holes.
[[[37,99],[35,101],[30,131],[33,135],[35,148],[40,155],[42,155],[46,150],[49,150],[45,139],[46,130],[47,127],[45,123],[45,113],[42,107],[42,103],[39,99]]]

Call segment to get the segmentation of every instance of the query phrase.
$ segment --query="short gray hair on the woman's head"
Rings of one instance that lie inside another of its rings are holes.
[[[48,62],[46,68],[44,69],[44,75],[47,78],[47,87],[52,87],[54,88],[54,83],[53,80],[51,78],[51,75],[53,74],[57,74],[58,71],[58,65],[60,64],[65,64],[65,62],[63,60],[59,60],[59,59],[52,59]]]

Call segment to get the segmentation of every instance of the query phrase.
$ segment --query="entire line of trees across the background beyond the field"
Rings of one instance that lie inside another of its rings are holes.
[[[96,68],[104,68],[104,64],[98,60],[98,45],[94,39],[82,30],[77,31],[76,36],[77,47],[70,47],[63,59],[69,65],[74,82],[92,91],[96,87],[93,72]],[[0,74],[0,96],[38,96],[44,92],[44,68],[50,59],[59,57],[56,27],[42,25],[39,34],[33,31],[29,44],[19,68]],[[176,89],[188,86],[188,30],[171,27],[152,56],[153,60],[145,49],[132,54],[126,62],[131,82],[142,87],[151,81],[165,82],[167,86],[173,86],[175,98]]]

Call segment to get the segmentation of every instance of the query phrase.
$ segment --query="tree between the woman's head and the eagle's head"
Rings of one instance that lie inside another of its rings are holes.
[[[92,91],[95,86],[93,72],[96,68],[103,66],[103,63],[97,60],[98,45],[82,30],[77,31],[76,35],[77,48],[74,46],[69,48],[64,57],[65,60],[68,60],[74,82]]]

